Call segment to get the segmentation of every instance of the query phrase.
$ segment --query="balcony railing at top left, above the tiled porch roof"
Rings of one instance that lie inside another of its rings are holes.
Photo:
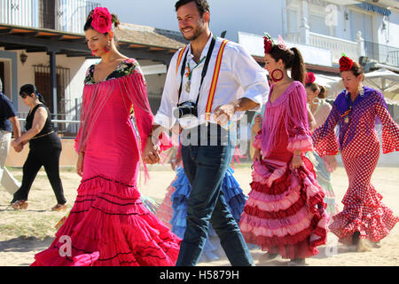
[[[0,0],[0,23],[82,34],[87,15],[98,6],[85,0]]]

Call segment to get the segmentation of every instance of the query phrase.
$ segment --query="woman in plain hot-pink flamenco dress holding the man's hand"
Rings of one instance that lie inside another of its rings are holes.
[[[75,145],[82,182],[51,247],[35,255],[32,265],[175,265],[181,240],[145,208],[137,191],[139,167],[145,166],[140,160],[154,148],[148,138],[153,114],[144,76],[135,59],[119,56],[112,30],[104,34],[95,29],[96,13],[109,14],[103,9],[90,13],[86,30],[90,49],[102,61],[89,68],[83,91]],[[111,42],[110,50],[104,43],[101,47],[103,37]],[[98,43],[91,43],[92,38],[99,38]],[[98,67],[113,56],[118,66],[106,80],[96,82]],[[136,123],[130,120],[131,107]]]

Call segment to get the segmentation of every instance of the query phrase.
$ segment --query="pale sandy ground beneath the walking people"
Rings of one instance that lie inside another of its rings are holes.
[[[239,181],[245,193],[249,193],[251,182],[249,165],[240,164],[235,169],[234,176]],[[12,169],[14,177],[21,180],[21,170]],[[152,179],[142,186],[141,193],[162,201],[166,188],[175,177],[175,173],[168,166],[154,166],[151,170]],[[80,178],[74,170],[62,170],[61,178],[66,193],[69,209],[74,203],[76,188]],[[384,196],[385,204],[399,216],[399,167],[378,167],[372,177],[372,183],[379,193]],[[339,201],[348,188],[348,177],[343,168],[338,168],[332,174],[332,187]],[[54,225],[65,215],[65,212],[51,212],[56,204],[51,185],[43,171],[38,177],[29,195],[27,211],[14,211],[8,207],[12,196],[0,186],[0,266],[23,266],[34,261],[36,253],[48,248],[56,233]],[[337,243],[332,233],[328,235],[328,244],[319,248],[320,253],[307,260],[312,266],[352,266],[352,265],[399,265],[399,225],[381,241],[381,248],[372,248],[370,252],[356,253],[353,248]],[[251,249],[256,265],[282,265],[287,260],[278,256],[271,261],[262,261],[264,252]],[[261,258],[261,259],[260,259]],[[200,263],[199,265],[225,266],[230,265],[227,259],[215,262]]]

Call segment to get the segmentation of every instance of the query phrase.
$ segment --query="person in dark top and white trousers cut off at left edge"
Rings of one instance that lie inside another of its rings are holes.
[[[5,168],[5,160],[10,150],[12,133],[15,139],[20,138],[20,122],[12,102],[3,91],[3,83],[0,79],[0,182],[9,193],[15,193],[20,188],[20,182],[12,177]],[[20,152],[22,149],[15,149]]]

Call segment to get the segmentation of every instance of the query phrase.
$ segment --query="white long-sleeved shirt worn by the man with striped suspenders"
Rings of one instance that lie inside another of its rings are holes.
[[[209,37],[207,45],[202,51],[200,59],[207,56],[207,51],[209,49],[212,36],[213,35]],[[180,125],[185,129],[192,128],[206,122],[205,112],[209,89],[215,71],[217,54],[222,43],[223,39],[218,37],[216,39],[215,48],[212,52],[209,65],[207,67],[207,75],[202,83],[200,99],[198,103],[199,119],[187,120],[183,118],[178,120]],[[178,92],[180,82],[182,80],[180,71],[186,52],[188,52],[186,66],[188,63],[190,65],[190,69],[192,70],[192,68],[197,65],[197,63],[193,60],[191,44],[189,44],[187,50],[188,51],[184,51],[180,66],[177,68],[177,73],[176,64],[179,51],[177,51],[170,60],[168,75],[160,102],[160,108],[154,118],[155,123],[165,127],[166,129],[170,129],[176,122],[176,117],[173,115],[176,105],[185,101],[192,101],[195,103],[199,95],[201,73],[205,64],[205,60],[203,60],[200,65],[192,71],[190,92],[187,92],[185,88],[188,78],[184,73],[181,97],[178,101]],[[185,72],[187,72],[187,70],[185,70]],[[211,112],[213,113],[217,106],[223,106],[241,98],[248,98],[258,103],[259,106],[254,110],[260,110],[262,105],[266,102],[268,93],[269,83],[267,81],[266,71],[259,66],[259,64],[244,47],[239,45],[239,43],[233,43],[229,41],[224,48],[222,65],[216,85],[215,99]],[[238,112],[231,118],[231,120],[239,120],[242,118],[243,114],[244,112]],[[213,114],[211,115],[210,122],[215,123]],[[224,127],[227,128],[228,126],[224,125]]]

